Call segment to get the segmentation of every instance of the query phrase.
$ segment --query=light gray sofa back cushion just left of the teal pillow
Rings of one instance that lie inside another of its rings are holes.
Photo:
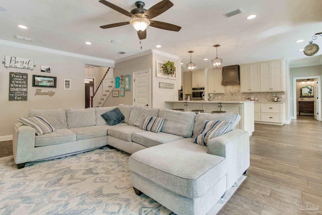
[[[71,108],[66,110],[67,127],[86,127],[96,125],[94,108]]]

